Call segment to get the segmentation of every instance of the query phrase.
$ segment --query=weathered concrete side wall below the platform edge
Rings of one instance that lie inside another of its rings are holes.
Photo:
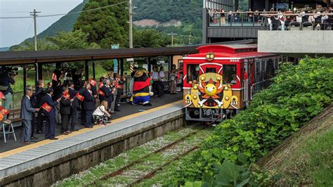
[[[123,153],[168,131],[180,129],[185,125],[183,113],[150,125],[130,134],[119,136],[96,146],[81,149],[76,153],[58,157],[44,165],[32,167],[17,174],[1,179],[1,186],[50,186],[56,181],[65,179],[90,167],[98,165],[112,157]]]

